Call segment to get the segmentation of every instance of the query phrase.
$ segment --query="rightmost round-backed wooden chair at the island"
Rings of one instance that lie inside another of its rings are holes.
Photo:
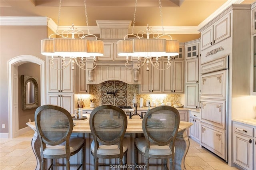
[[[149,166],[168,168],[167,159],[174,170],[174,142],[179,125],[180,115],[174,107],[158,106],[147,111],[142,120],[144,137],[135,138],[135,164],[139,153],[145,156],[147,170]],[[164,164],[149,164],[150,158],[163,159]]]

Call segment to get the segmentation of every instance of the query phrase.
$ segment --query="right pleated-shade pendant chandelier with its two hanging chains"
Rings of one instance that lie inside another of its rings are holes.
[[[162,24],[162,34],[158,32],[150,32],[151,27],[147,25],[146,31],[139,31],[137,35],[134,34],[134,25],[135,25],[135,16],[136,16],[137,0],[135,1],[135,10],[134,10],[134,20],[132,26],[132,34],[127,34],[124,36],[124,40],[119,40],[117,42],[117,51],[119,56],[126,56],[125,66],[130,70],[139,70],[143,65],[147,64],[147,69],[149,70],[149,63],[152,64],[156,69],[159,68],[158,57],[167,56],[168,62],[165,69],[170,68],[170,56],[179,55],[180,45],[178,40],[172,40],[172,37],[168,34],[164,34],[164,26],[162,19],[162,5],[159,0],[160,8],[160,18]],[[147,38],[143,38],[143,34],[147,35]],[[150,38],[150,34],[153,34],[153,38]],[[157,35],[157,36],[156,36]],[[134,36],[134,39],[128,39],[128,36]],[[162,37],[167,36],[167,39],[162,39]],[[126,39],[127,38],[127,39]],[[128,56],[138,57],[138,62],[136,63],[137,68],[131,69],[128,66]],[[140,57],[144,57],[144,62],[141,64]],[[156,62],[152,62],[152,57],[156,57]],[[160,70],[165,70],[160,69]]]

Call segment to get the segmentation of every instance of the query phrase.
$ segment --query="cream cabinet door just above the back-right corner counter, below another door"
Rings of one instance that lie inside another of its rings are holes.
[[[186,84],[185,98],[185,107],[198,108],[198,84]]]

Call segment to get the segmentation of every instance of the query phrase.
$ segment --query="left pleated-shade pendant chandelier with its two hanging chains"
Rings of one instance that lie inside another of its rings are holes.
[[[98,38],[90,34],[89,24],[88,24],[88,14],[86,10],[86,0],[84,0],[84,10],[86,16],[86,24],[88,33],[85,34],[81,30],[76,30],[74,24],[72,24],[70,30],[64,30],[62,33],[58,33],[58,27],[60,22],[60,8],[61,0],[59,4],[59,13],[58,13],[58,25],[56,34],[51,34],[49,38],[41,40],[41,54],[46,56],[52,56],[50,65],[54,68],[54,56],[62,57],[62,69],[65,69],[70,65],[74,69],[74,63],[78,65],[79,68],[84,70],[92,70],[96,67],[96,56],[103,56],[104,44],[103,41],[98,40]],[[71,34],[72,38],[68,38]],[[75,38],[75,34],[78,34],[79,38]],[[52,36],[60,36],[60,38],[51,38]],[[89,38],[90,39],[86,39]],[[93,37],[93,38],[91,38]],[[96,38],[96,40],[92,40]],[[68,63],[65,61],[65,57],[70,57]],[[78,63],[77,58],[80,57],[81,62]],[[84,62],[84,57],[93,57],[93,67],[91,69],[86,69]],[[59,69],[57,69],[59,70]]]

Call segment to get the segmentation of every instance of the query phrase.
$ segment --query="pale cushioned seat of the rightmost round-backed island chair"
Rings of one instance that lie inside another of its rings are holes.
[[[146,139],[144,137],[135,138],[135,144],[142,153],[146,151]],[[175,152],[175,148],[174,148]],[[169,145],[159,146],[159,145],[151,145],[149,149],[149,155],[158,155],[158,156],[165,156],[171,155],[172,150],[170,149]]]

